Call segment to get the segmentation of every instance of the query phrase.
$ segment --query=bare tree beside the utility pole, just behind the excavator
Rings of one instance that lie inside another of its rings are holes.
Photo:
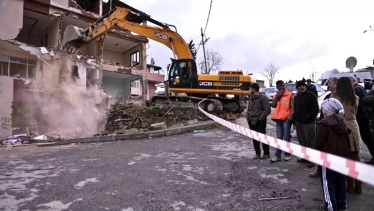
[[[202,74],[214,73],[215,71],[221,68],[221,65],[223,64],[223,57],[222,57],[221,52],[217,50],[214,51],[213,49],[206,49],[205,56],[206,56],[206,63],[207,63],[206,68],[205,68],[204,56],[200,58]]]

